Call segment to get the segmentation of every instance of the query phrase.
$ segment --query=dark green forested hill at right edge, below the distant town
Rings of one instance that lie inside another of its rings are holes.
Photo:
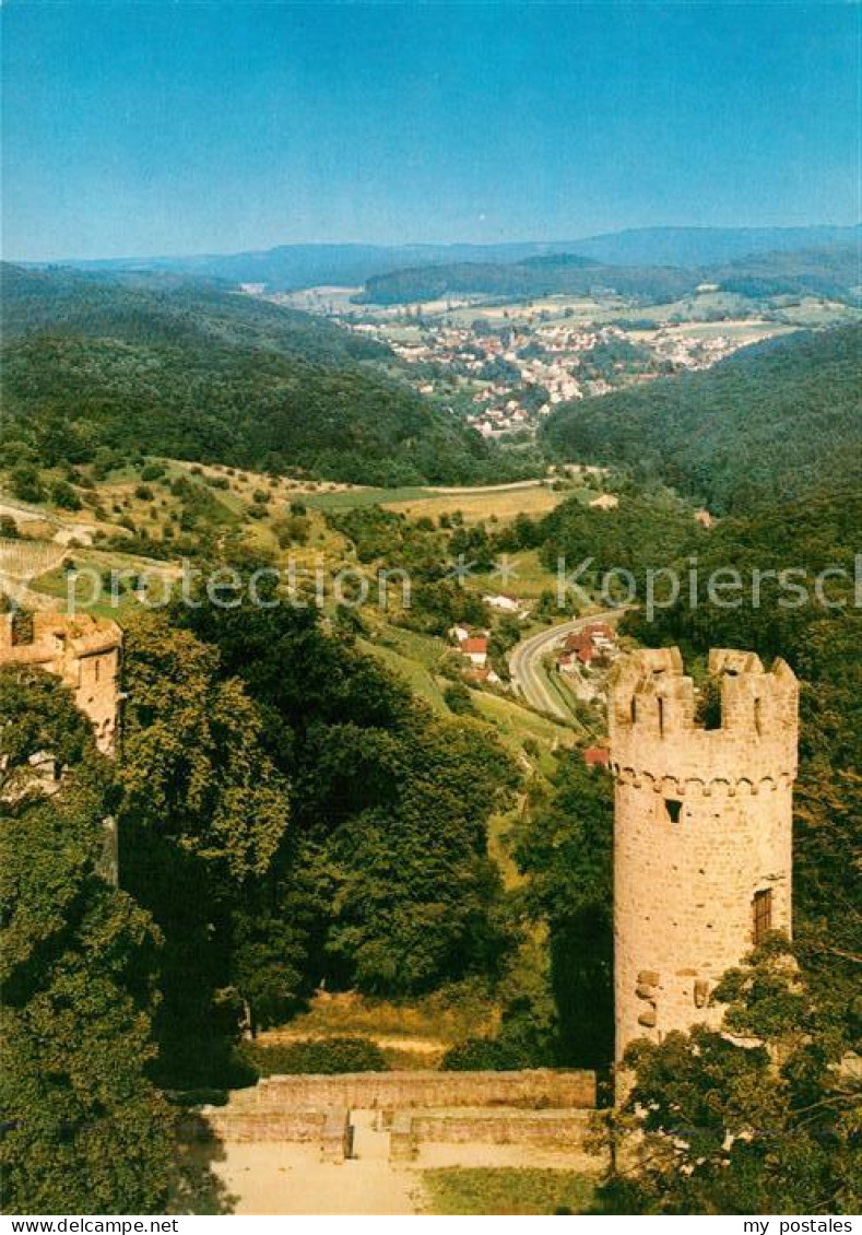
[[[862,326],[745,348],[715,368],[557,409],[545,446],[659,477],[724,514],[862,485]]]

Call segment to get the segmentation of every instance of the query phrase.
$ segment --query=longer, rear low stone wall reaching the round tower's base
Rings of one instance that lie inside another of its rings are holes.
[[[324,1109],[405,1110],[450,1107],[542,1108],[595,1107],[594,1072],[346,1072],[338,1076],[273,1076],[235,1094],[237,1107],[253,1110]]]

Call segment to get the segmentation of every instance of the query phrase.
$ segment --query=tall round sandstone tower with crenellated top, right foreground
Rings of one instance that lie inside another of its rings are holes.
[[[705,1021],[768,930],[790,931],[799,687],[778,661],[713,651],[720,727],[697,718],[678,648],[621,659],[610,692],[616,1058]]]

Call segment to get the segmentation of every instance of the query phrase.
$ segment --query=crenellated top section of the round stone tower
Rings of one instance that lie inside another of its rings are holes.
[[[719,716],[684,673],[679,648],[625,657],[610,685],[610,739],[617,776],[730,785],[793,781],[797,773],[799,683],[784,661],[766,672],[755,652],[716,648],[709,672]]]

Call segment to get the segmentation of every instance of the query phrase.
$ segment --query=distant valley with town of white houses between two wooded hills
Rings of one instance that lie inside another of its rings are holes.
[[[551,288],[554,275],[566,280],[568,267],[543,262]],[[792,258],[783,264],[797,275]],[[531,296],[464,295],[456,277],[445,295],[425,299],[421,272],[406,272],[415,285],[394,303],[374,280],[364,289],[266,291],[261,284],[247,291],[326,316],[388,347],[432,403],[456,410],[487,440],[525,441],[558,405],[710,368],[740,348],[862,315],[852,294],[832,299],[805,287],[782,291],[779,283],[740,283],[742,269],[740,263],[727,287],[701,272],[703,282],[695,275],[684,295],[668,301],[640,288],[638,295],[596,288],[598,275],[575,295],[546,288]],[[438,277],[433,269],[427,274]],[[603,277],[614,283],[613,269]],[[848,270],[848,293],[851,282]]]

